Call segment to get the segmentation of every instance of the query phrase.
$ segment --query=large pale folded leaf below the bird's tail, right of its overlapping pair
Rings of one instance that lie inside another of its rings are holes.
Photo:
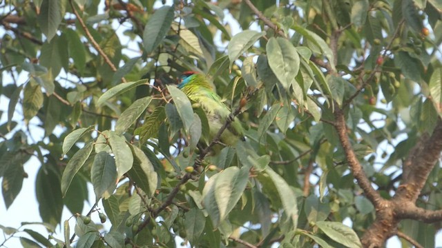
[[[220,210],[220,222],[240,200],[249,180],[249,168],[228,167],[219,173],[215,183],[215,200]]]

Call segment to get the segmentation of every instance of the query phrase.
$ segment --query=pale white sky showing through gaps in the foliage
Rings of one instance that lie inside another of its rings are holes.
[[[171,4],[171,0],[166,1],[166,4]],[[101,3],[102,6],[100,6],[99,10],[104,10],[104,3],[102,1]],[[160,2],[157,2],[157,6],[160,6]],[[3,14],[3,9],[0,8],[0,14]],[[240,26],[238,25],[238,23],[231,17],[231,15],[229,14],[229,12],[224,11],[225,14],[225,19],[224,19],[224,23],[229,23],[229,25],[231,26],[231,30],[233,35],[240,32]],[[124,27],[124,25],[118,25],[118,23],[114,23],[115,27],[117,28],[117,34],[119,34],[119,37],[122,41],[122,44],[127,44],[129,43],[129,41],[124,37],[124,35],[122,35],[122,32],[126,29]],[[251,25],[251,29],[256,29],[258,28],[258,25]],[[0,30],[0,36],[3,36],[4,30],[1,29]],[[227,43],[220,43],[220,32],[215,35],[215,39],[218,39],[217,41],[217,45],[219,45],[222,48],[225,48],[227,46]],[[137,45],[136,43],[133,43],[133,45],[131,45],[133,48],[137,49]],[[137,54],[136,52],[133,52],[133,50],[124,50],[124,53],[128,54],[129,56],[135,57],[135,56],[140,56],[140,54]],[[66,75],[66,73],[62,70],[61,74],[59,75],[61,77],[67,77],[68,75]],[[28,80],[28,75],[27,74],[20,74],[18,79],[17,79],[17,83],[22,84],[25,83]],[[64,80],[59,80],[59,82],[61,84],[66,83],[66,81]],[[8,73],[3,72],[3,85],[8,85],[10,83],[13,83],[12,79],[10,78],[10,76],[8,75]],[[378,98],[379,99],[379,98]],[[0,118],[0,125],[3,123],[6,123],[6,113],[8,112],[8,99],[5,98],[4,96],[0,97],[0,111],[3,111],[3,115]],[[378,103],[381,104],[381,103]],[[17,105],[17,109],[15,112],[15,120],[17,120],[18,122],[21,122],[21,118],[22,118],[22,111],[21,111],[21,107],[19,105]],[[376,117],[377,118],[377,117]],[[30,127],[31,127],[31,132],[32,132],[32,137],[35,140],[41,140],[41,137],[44,135],[44,132],[41,130],[41,128],[37,127],[38,125],[38,121],[36,120],[36,118],[32,119]],[[20,127],[19,127],[20,128]],[[55,134],[59,134],[60,133],[60,129],[58,127],[58,132],[57,129],[55,130]],[[10,134],[7,136],[8,138],[10,138]],[[400,140],[396,141],[396,143],[398,143]],[[31,141],[30,141],[31,142]],[[378,147],[378,149],[387,149],[387,150],[392,150],[392,147],[388,147],[384,145],[380,145],[380,147]],[[6,210],[6,206],[4,204],[3,201],[3,196],[1,196],[1,192],[0,192],[0,225],[3,225],[5,227],[15,227],[18,228],[22,222],[41,222],[41,218],[39,216],[39,210],[38,210],[38,203],[37,203],[37,198],[35,196],[35,178],[37,176],[37,171],[40,167],[40,163],[37,160],[37,158],[35,158],[35,156],[32,156],[32,158],[30,159],[30,161],[28,161],[28,163],[26,163],[24,165],[24,169],[26,171],[26,173],[28,173],[29,177],[28,178],[24,178],[23,180],[23,187],[21,189],[20,194],[17,196],[17,198],[15,199],[14,203],[12,203],[12,205],[10,206],[10,208],[8,210]],[[316,178],[312,178],[312,181],[316,180]],[[90,207],[92,207],[92,204],[95,200],[95,195],[93,194],[93,188],[91,185],[89,185],[88,187],[89,189],[89,203],[85,203],[84,206],[84,212],[82,214],[86,214]],[[64,208],[63,211],[63,215],[61,217],[61,222],[63,223],[64,220],[70,218],[70,216],[72,216],[72,214],[70,214],[70,212],[68,211],[68,209],[66,209],[66,207]],[[98,214],[93,214],[92,216],[93,221],[95,221],[95,223],[99,223],[99,218],[98,218]],[[107,223],[109,223],[109,220],[107,221]],[[345,225],[349,225],[350,227],[352,226],[352,221],[349,220],[349,218],[347,218],[344,221]],[[108,225],[107,225],[108,226]],[[75,218],[71,218],[70,220],[70,230],[71,230],[71,234],[73,234],[73,230],[75,227]],[[28,228],[28,229],[34,229],[35,231],[43,234],[44,236],[47,236],[47,232],[46,229],[44,227],[42,227],[41,225],[27,225],[24,228]],[[21,228],[21,229],[24,229]],[[62,227],[59,225],[56,228],[56,232],[57,235],[55,236],[56,238],[59,238],[60,240],[64,240],[63,238],[63,229]],[[24,236],[27,238],[30,238],[30,236],[28,236],[28,234],[25,233],[20,233],[17,236]],[[0,244],[1,242],[3,242],[4,238],[7,238],[8,236],[3,236],[0,234]],[[32,238],[31,238],[32,239]],[[180,243],[180,240],[177,240],[177,243]],[[19,238],[11,238],[10,240],[8,240],[6,242],[6,247],[21,247],[21,244],[19,242]],[[390,238],[390,240],[388,240],[387,242],[387,247],[401,247],[400,242],[398,240],[398,238],[395,236],[393,238]],[[436,247],[442,247],[442,236],[441,236],[441,232],[439,232],[439,234],[436,236]]]

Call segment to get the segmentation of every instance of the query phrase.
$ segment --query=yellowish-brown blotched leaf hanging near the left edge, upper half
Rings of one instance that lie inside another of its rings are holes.
[[[23,116],[28,122],[34,117],[43,106],[44,96],[41,86],[35,83],[28,83],[23,91]]]

